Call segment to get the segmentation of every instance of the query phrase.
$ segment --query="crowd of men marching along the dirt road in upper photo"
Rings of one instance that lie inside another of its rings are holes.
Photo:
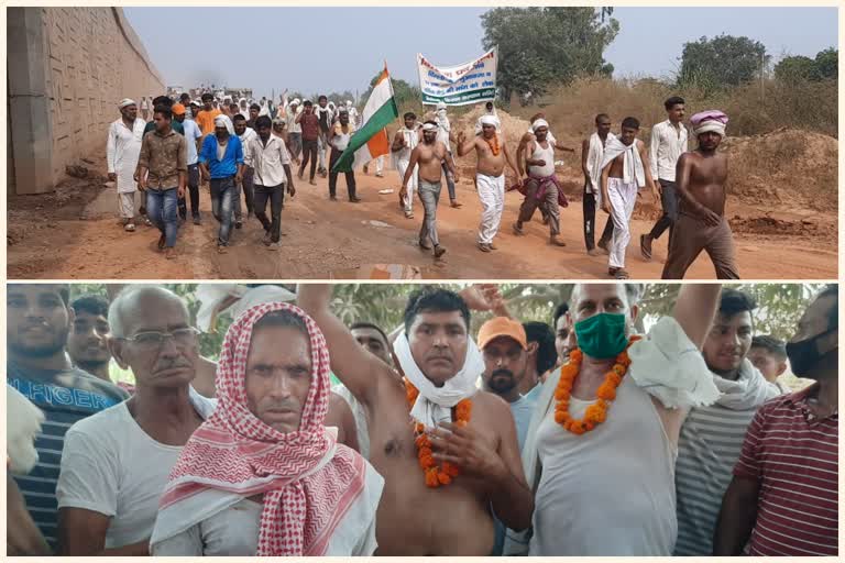
[[[121,118],[109,129],[108,169],[117,185],[119,210],[127,231],[135,230],[135,194],[144,196],[140,214],[161,231],[158,247],[174,257],[179,220],[187,220],[187,198],[194,223],[200,224],[200,184],[208,181],[212,214],[220,222],[218,250],[227,252],[232,227],[241,229],[253,214],[264,229],[264,244],[277,250],[285,196],[296,194],[297,179],[316,185],[316,177],[328,178],[329,199],[338,200],[334,164],[360,126],[351,100],[336,107],[326,96],[317,103],[283,93],[279,104],[270,100],[251,103],[245,99],[217,100],[204,93],[201,100],[183,95],[178,102],[162,96],[153,100],[152,121],[138,117],[138,106],[124,99]],[[713,261],[716,277],[738,278],[734,241],[725,217],[727,161],[718,152],[728,121],[721,111],[692,115],[690,124],[698,146],[689,151],[690,135],[683,124],[684,100],[671,97],[665,102],[667,120],[651,128],[650,143],[637,139],[640,123],[625,118],[619,131],[611,130],[605,113],[595,118],[595,133],[581,146],[584,175],[583,231],[586,253],[608,255],[608,276],[627,279],[626,250],[632,239],[630,222],[643,189],[649,189],[662,205],[662,216],[639,238],[645,261],[651,261],[654,241],[668,231],[665,279],[683,278],[702,251]],[[452,130],[448,108],[440,102],[432,119],[419,121],[413,112],[403,115],[402,126],[391,141],[393,167],[400,181],[399,207],[414,219],[414,200],[422,205],[419,246],[435,258],[446,253],[437,229],[437,207],[446,181],[450,205],[461,207],[456,192],[459,157],[475,153],[473,183],[482,206],[478,231],[481,252],[495,251],[506,191],[518,189],[523,203],[513,233],[525,234],[537,209],[549,227],[549,242],[566,246],[560,236],[560,208],[569,202],[556,174],[556,151],[575,153],[559,144],[550,124],[538,113],[528,132],[518,140],[516,154],[504,139],[493,102],[475,124],[473,134]],[[174,134],[174,133],[179,133]],[[147,139],[149,137],[149,139]],[[506,187],[505,167],[513,184]],[[365,167],[366,168],[366,167]],[[384,158],[376,161],[376,176],[383,176]],[[350,202],[361,198],[355,172],[344,172]],[[243,194],[243,202],[241,201]],[[266,205],[270,201],[270,216]],[[243,213],[245,205],[246,213]],[[608,214],[595,241],[596,210]]]

